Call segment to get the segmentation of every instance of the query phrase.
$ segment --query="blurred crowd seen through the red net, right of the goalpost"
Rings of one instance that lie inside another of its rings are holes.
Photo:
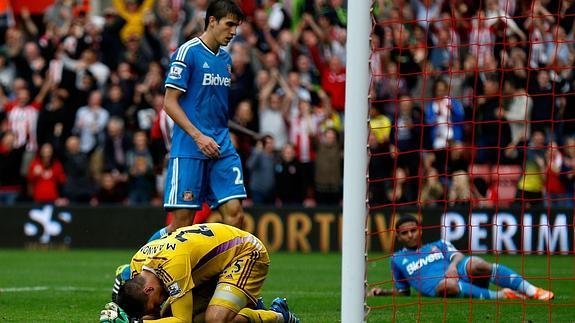
[[[372,206],[573,206],[575,1],[377,4]]]

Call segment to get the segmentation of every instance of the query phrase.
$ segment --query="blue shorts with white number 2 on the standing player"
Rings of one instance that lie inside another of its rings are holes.
[[[211,208],[245,199],[242,163],[238,154],[218,159],[170,158],[164,191],[166,210]]]

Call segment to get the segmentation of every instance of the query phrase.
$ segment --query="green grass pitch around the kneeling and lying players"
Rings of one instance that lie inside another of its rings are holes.
[[[113,273],[130,251],[0,250],[0,322],[96,322],[109,301]],[[371,256],[371,255],[370,255]],[[494,260],[493,257],[485,256]],[[271,255],[272,266],[263,297],[266,303],[286,296],[304,323],[340,318],[339,254]],[[548,260],[550,259],[550,263]],[[417,296],[368,300],[369,322],[572,322],[575,305],[575,258],[572,256],[500,256],[498,261],[550,287],[550,303],[489,302]],[[550,267],[548,267],[550,266]],[[370,282],[389,280],[387,261],[368,266]],[[521,268],[524,268],[522,270]],[[551,268],[553,280],[545,279]],[[563,280],[558,280],[563,279]],[[385,284],[383,287],[388,287]],[[394,307],[396,306],[395,316]],[[386,307],[387,306],[387,307]]]

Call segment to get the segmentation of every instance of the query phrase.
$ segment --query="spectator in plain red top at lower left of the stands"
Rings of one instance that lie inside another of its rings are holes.
[[[60,186],[65,181],[64,167],[54,156],[52,144],[43,144],[28,171],[28,184],[32,199],[37,203],[62,202]]]

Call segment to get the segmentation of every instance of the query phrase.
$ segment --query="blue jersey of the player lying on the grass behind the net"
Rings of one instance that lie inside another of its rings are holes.
[[[399,291],[415,288],[425,296],[435,296],[435,287],[445,278],[451,258],[458,250],[449,241],[439,240],[396,252],[391,257],[395,288]]]

